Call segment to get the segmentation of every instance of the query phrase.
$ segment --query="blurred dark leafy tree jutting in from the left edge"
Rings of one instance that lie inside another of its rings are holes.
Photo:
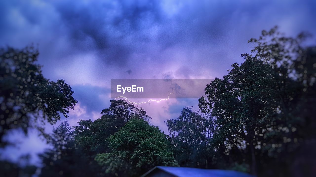
[[[0,146],[2,137],[13,128],[27,133],[31,117],[53,124],[60,114],[68,117],[77,100],[63,79],[57,82],[43,77],[35,64],[39,53],[33,47],[0,49]]]

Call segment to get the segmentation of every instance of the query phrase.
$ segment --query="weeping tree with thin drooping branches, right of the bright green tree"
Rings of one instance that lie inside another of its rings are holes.
[[[211,117],[184,107],[177,119],[165,120],[181,166],[208,168],[206,145],[214,129]]]

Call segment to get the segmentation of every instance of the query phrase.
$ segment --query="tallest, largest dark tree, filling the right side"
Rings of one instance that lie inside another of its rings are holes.
[[[232,65],[199,99],[215,117],[212,159],[217,168],[250,165],[259,176],[311,175],[315,167],[316,47],[308,35],[263,31],[244,63]],[[223,165],[226,164],[226,165]]]

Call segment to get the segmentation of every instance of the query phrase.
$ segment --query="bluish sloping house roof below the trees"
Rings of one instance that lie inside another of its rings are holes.
[[[201,169],[201,168],[189,168],[189,167],[164,167],[156,166],[143,174],[141,177],[145,177],[147,174],[155,169],[160,169],[168,174],[172,174],[178,177],[253,177],[250,174],[233,171],[233,170],[217,170],[217,169]]]

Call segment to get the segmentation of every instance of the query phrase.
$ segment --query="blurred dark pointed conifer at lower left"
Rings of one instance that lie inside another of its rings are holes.
[[[39,155],[43,161],[40,176],[103,176],[97,163],[91,162],[76,144],[74,129],[68,121],[63,121],[46,138],[52,148]]]

